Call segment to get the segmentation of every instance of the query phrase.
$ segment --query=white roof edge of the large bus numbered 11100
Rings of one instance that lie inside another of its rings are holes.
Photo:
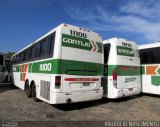
[[[20,51],[18,51],[17,53],[15,53],[13,56],[15,56],[15,55],[17,55],[18,53],[22,52],[23,50],[27,49],[27,48],[30,47],[31,45],[37,43],[38,41],[40,41],[41,39],[47,37],[48,35],[54,33],[58,28],[63,27],[63,26],[78,27],[78,26],[74,26],[74,25],[69,25],[69,24],[66,24],[66,23],[62,23],[62,24],[58,25],[57,27],[51,29],[49,32],[47,32],[46,34],[44,34],[43,36],[41,36],[41,37],[38,38],[37,40],[33,41],[31,44],[29,44],[29,45],[26,46],[25,48],[23,48],[23,49],[21,49]],[[88,29],[86,29],[86,28],[82,28],[82,27],[78,27],[78,28],[84,29],[84,30],[86,30],[86,31],[88,31],[88,32],[92,32],[92,33],[94,33],[94,34],[97,34],[97,33],[93,32],[93,31],[90,31],[90,30],[88,30]],[[97,35],[99,35],[99,34],[97,34]],[[101,36],[101,35],[99,35],[99,36]],[[13,56],[12,56],[12,57],[13,57]]]

